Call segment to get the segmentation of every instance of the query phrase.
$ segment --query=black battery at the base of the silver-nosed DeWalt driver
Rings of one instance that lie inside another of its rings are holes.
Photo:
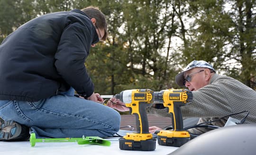
[[[119,148],[121,150],[154,151],[155,145],[155,138],[140,141],[129,140],[123,137],[119,138]]]

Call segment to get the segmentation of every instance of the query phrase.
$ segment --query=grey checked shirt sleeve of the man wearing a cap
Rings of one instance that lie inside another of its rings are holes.
[[[181,108],[184,117],[223,117],[234,112],[222,84],[209,84],[192,93],[193,100]]]

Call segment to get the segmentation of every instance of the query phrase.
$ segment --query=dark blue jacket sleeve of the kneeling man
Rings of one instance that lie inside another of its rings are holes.
[[[57,72],[75,91],[88,97],[94,91],[94,84],[84,62],[91,42],[92,27],[75,22],[64,29],[55,54]]]

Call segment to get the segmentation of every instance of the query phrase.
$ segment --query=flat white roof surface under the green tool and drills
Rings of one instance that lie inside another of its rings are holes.
[[[36,143],[31,147],[29,141],[2,142],[0,155],[167,155],[178,147],[159,146],[156,141],[154,151],[128,151],[119,149],[119,137],[111,137],[110,146],[78,145],[75,142]]]

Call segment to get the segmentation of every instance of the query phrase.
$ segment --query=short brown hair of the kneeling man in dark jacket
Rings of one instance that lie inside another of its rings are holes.
[[[105,15],[101,12],[101,10],[97,7],[87,7],[81,9],[81,11],[83,11],[89,18],[96,19],[96,25],[99,28],[104,29],[105,32],[101,40],[106,40],[108,37],[108,24]]]

